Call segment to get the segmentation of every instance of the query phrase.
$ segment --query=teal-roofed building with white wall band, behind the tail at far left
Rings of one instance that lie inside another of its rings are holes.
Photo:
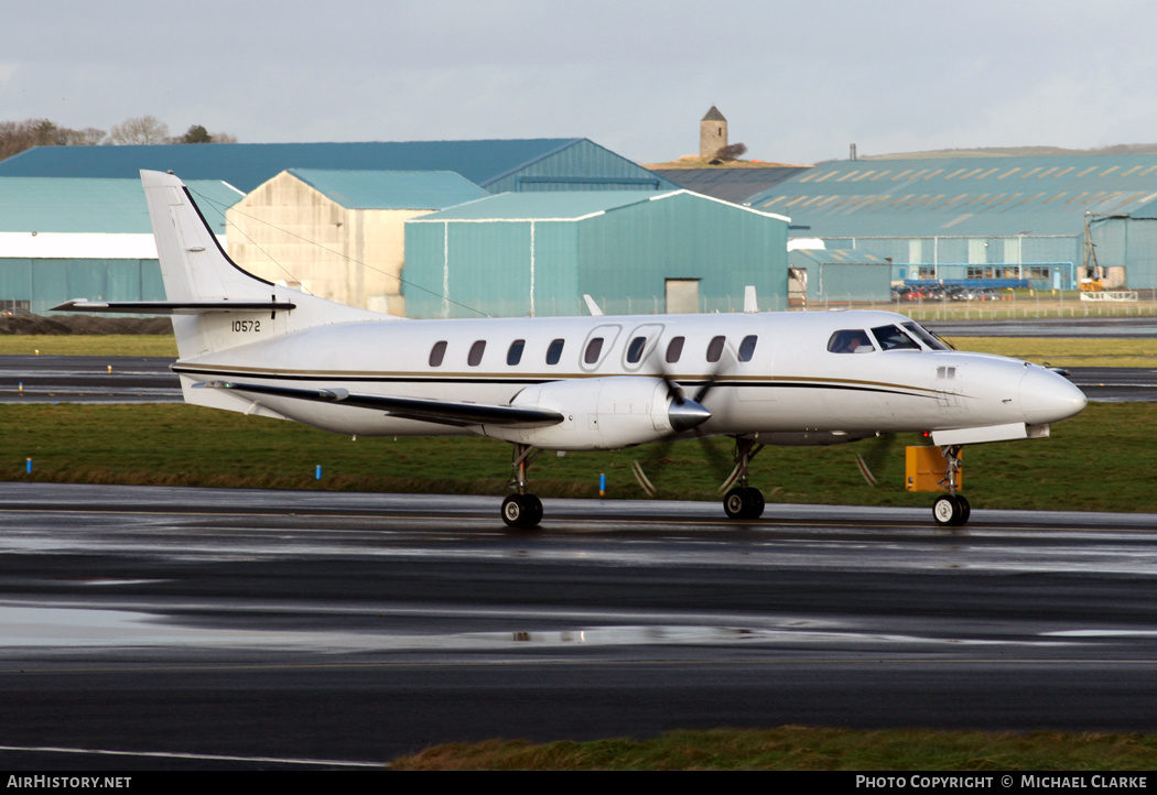
[[[224,245],[220,181],[190,191]],[[163,300],[140,179],[0,178],[0,302],[44,314],[69,298]]]

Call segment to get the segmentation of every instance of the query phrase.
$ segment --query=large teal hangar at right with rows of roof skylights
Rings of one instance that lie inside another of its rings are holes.
[[[1148,289],[1157,288],[1155,200],[1157,155],[1103,155],[839,161],[745,203],[790,215],[793,236],[892,259],[894,278],[1071,289],[1093,252]]]

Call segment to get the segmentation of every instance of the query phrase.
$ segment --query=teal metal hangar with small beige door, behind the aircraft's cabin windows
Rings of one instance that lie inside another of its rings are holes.
[[[788,220],[688,191],[509,193],[406,222],[411,317],[787,306]]]

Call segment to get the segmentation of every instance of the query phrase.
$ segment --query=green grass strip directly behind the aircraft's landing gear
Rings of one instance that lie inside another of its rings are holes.
[[[975,445],[964,452],[964,491],[973,507],[1157,512],[1157,444],[1140,429],[1157,424],[1157,404],[1092,403],[1042,440]],[[510,446],[477,437],[359,438],[296,423],[184,404],[0,406],[0,478],[81,483],[502,495]],[[639,458],[661,496],[720,499],[730,444],[698,441],[605,453],[546,453],[530,470],[544,497],[596,497],[600,473],[610,498],[642,498],[631,475]],[[907,492],[904,446],[868,440],[833,447],[769,447],[751,478],[768,503],[927,506]],[[871,488],[855,454],[885,447]],[[655,456],[664,453],[661,460]],[[32,473],[24,473],[25,459]],[[322,481],[314,480],[323,467]],[[774,515],[774,514],[769,514]]]

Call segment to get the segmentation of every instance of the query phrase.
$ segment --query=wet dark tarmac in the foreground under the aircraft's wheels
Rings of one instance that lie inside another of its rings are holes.
[[[513,534],[488,497],[0,483],[0,764],[1157,729],[1155,515],[544,503]]]

